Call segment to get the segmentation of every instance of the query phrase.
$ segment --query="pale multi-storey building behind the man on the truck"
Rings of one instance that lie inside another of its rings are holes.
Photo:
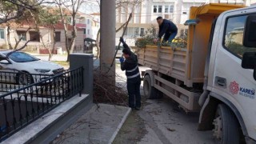
[[[184,22],[189,18],[191,6],[201,6],[206,3],[232,3],[237,5],[250,6],[254,0],[147,0],[141,5],[135,6],[133,10],[133,18],[124,34],[126,42],[130,46],[135,45],[135,39],[139,38],[150,26],[157,26],[156,18],[162,16],[174,22],[178,26],[178,36],[183,34],[187,27]],[[122,26],[127,21],[129,14],[132,11],[132,6],[120,7],[116,14],[117,28]],[[116,42],[122,36],[123,30],[116,34]]]

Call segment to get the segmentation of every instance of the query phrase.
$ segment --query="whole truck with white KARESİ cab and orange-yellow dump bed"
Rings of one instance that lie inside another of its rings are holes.
[[[186,25],[186,47],[139,48],[144,94],[200,110],[198,130],[218,143],[256,143],[256,6],[191,7]]]

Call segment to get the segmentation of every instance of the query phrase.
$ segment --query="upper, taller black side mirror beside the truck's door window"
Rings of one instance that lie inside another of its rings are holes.
[[[246,24],[243,34],[243,46],[256,47],[256,15],[249,15],[246,18]]]

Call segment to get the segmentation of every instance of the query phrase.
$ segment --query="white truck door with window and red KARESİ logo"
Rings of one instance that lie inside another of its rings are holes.
[[[255,9],[254,9],[255,11]],[[222,18],[215,55],[212,92],[230,101],[242,115],[251,138],[256,138],[256,82],[253,70],[243,69],[242,55],[256,51],[242,46],[248,14],[233,11]],[[216,33],[215,33],[216,34]]]

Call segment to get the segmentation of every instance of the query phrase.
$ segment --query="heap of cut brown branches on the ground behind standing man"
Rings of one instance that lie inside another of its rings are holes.
[[[94,103],[128,106],[126,88],[119,83],[122,78],[118,74],[115,74],[115,77],[118,82],[113,82],[113,78],[102,74],[100,70],[94,70]]]

